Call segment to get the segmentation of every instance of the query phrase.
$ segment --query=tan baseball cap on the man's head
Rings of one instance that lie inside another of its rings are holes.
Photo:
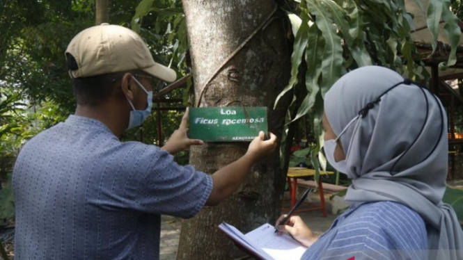
[[[175,71],[155,63],[141,37],[123,26],[101,24],[77,34],[66,49],[77,66],[69,70],[72,78],[113,72],[143,70],[163,81],[175,81]]]

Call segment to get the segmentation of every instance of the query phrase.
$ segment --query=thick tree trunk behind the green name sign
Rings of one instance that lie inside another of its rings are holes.
[[[195,105],[207,80],[221,63],[276,8],[273,0],[203,1],[183,0]],[[224,65],[207,84],[200,106],[267,106],[269,131],[281,138],[290,98],[273,110],[276,96],[288,83],[291,44],[286,38],[289,24],[279,10],[269,24]],[[281,140],[281,139],[279,139]],[[290,142],[289,142],[290,143]],[[249,143],[207,143],[191,147],[190,163],[197,170],[213,173],[245,152]],[[205,207],[198,216],[182,223],[178,259],[235,259],[244,252],[221,234],[217,226],[228,222],[243,232],[269,222],[281,213],[285,173],[279,150],[253,166],[244,184],[219,206]]]

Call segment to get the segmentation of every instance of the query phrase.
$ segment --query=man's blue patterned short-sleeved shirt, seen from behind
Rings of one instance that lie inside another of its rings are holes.
[[[26,143],[13,188],[15,260],[159,259],[160,215],[196,215],[212,179],[71,115]]]

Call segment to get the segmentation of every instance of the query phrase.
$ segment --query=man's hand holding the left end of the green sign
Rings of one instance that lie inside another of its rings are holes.
[[[188,149],[191,145],[203,145],[204,143],[202,140],[188,138],[188,114],[189,110],[187,108],[187,111],[185,111],[185,114],[182,117],[182,122],[180,122],[180,127],[172,133],[171,138],[168,138],[167,143],[161,147],[161,149],[169,154],[173,155],[177,152]]]

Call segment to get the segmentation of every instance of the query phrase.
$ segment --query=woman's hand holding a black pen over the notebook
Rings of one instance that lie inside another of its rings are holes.
[[[278,230],[278,234],[287,233],[295,238],[299,243],[310,247],[315,241],[317,241],[317,236],[315,236],[311,229],[307,227],[304,221],[299,216],[290,216],[290,219],[285,223],[285,225],[279,225],[281,220],[285,218],[286,215],[281,215],[278,220],[276,220],[275,227]]]

